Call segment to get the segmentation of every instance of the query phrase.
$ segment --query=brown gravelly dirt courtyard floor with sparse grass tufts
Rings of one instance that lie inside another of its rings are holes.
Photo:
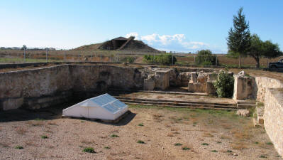
[[[0,159],[282,159],[265,129],[235,112],[131,106],[109,124],[62,119],[65,107],[0,112]]]

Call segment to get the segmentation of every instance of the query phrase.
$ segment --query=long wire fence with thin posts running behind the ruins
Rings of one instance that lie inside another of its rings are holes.
[[[172,61],[167,65],[218,65],[238,67],[239,59],[226,54],[213,54],[213,63],[199,63],[196,53],[172,53]],[[103,62],[103,63],[149,63],[145,55],[151,55],[153,60],[164,53],[146,52],[143,50],[66,50],[62,48],[0,48],[0,63],[51,63],[51,62]],[[276,62],[279,58],[261,58],[260,67],[266,68],[268,63]],[[158,63],[150,61],[150,63]],[[256,61],[245,57],[241,60],[243,67],[255,68]]]

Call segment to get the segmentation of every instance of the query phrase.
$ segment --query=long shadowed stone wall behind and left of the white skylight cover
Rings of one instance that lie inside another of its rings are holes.
[[[143,88],[135,68],[109,65],[57,65],[0,73],[0,110],[37,109],[70,100],[74,92]]]

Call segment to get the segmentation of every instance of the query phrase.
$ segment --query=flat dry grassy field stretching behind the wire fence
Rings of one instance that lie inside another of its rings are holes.
[[[144,63],[143,55],[157,55],[160,53],[145,53],[137,50],[48,50],[48,62],[123,62],[126,58],[132,57],[135,63]],[[218,63],[222,66],[237,67],[238,59],[228,58],[226,54],[216,54]],[[174,53],[177,58],[177,65],[194,65],[196,54]],[[283,57],[280,57],[283,58]],[[274,62],[280,58],[261,58],[260,66],[266,68],[269,62]],[[26,50],[26,62],[45,62],[46,50]],[[23,50],[1,50],[0,63],[23,63]],[[243,60],[243,66],[255,67],[253,58],[247,57]]]

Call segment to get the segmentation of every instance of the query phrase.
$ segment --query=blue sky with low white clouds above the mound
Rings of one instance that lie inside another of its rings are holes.
[[[282,0],[1,0],[0,47],[71,49],[135,36],[159,50],[226,53],[241,6],[250,32],[282,50]]]

